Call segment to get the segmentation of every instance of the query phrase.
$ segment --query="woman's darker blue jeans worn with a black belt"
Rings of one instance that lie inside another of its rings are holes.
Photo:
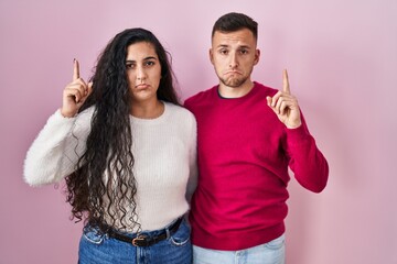
[[[191,264],[192,244],[190,226],[183,219],[178,231],[150,246],[133,246],[131,243],[98,234],[98,230],[86,226],[78,249],[79,264]],[[142,232],[157,235],[161,231]],[[135,237],[133,233],[130,234]]]

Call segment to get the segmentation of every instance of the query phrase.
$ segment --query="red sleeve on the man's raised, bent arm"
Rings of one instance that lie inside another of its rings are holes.
[[[326,186],[329,165],[309,133],[303,114],[301,119],[302,125],[299,128],[286,128],[289,166],[300,185],[313,193],[321,193]]]

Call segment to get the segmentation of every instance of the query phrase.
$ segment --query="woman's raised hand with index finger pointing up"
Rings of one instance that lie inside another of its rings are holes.
[[[68,84],[62,98],[61,113],[65,118],[72,118],[83,106],[84,101],[93,91],[93,82],[88,85],[79,77],[79,65],[77,59],[73,61],[73,80]]]

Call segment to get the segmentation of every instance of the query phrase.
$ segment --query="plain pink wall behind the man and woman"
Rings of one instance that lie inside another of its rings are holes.
[[[331,167],[320,195],[291,180],[287,262],[397,263],[397,1],[204,2],[0,0],[1,264],[77,261],[82,224],[69,221],[63,185],[22,180],[26,150],[61,106],[73,58],[87,78],[110,37],[149,29],[172,53],[184,99],[217,81],[210,34],[229,11],[259,22],[254,77],[279,88],[288,68]]]

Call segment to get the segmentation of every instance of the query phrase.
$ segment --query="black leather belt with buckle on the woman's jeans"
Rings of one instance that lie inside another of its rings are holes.
[[[139,234],[136,238],[130,238],[126,234],[121,234],[112,229],[110,229],[108,231],[108,235],[110,238],[127,242],[127,243],[131,243],[135,246],[150,246],[153,245],[164,239],[167,239],[168,234],[167,234],[167,230],[169,231],[169,234],[173,234],[176,232],[176,230],[179,229],[179,226],[182,222],[182,217],[179,218],[171,227],[163,229],[161,231],[160,234],[155,235],[155,237],[148,237],[146,234]]]

